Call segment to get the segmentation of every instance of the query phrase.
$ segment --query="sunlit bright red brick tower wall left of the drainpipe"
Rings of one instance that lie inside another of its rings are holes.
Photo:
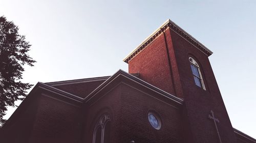
[[[163,34],[129,62],[129,73],[138,72],[142,80],[175,95]]]

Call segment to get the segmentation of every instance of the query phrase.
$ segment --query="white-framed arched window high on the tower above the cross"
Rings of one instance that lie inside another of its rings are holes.
[[[196,62],[196,60],[194,60],[191,57],[189,57],[189,62],[190,62],[190,67],[191,67],[196,85],[198,85],[198,87],[206,90],[198,63]]]

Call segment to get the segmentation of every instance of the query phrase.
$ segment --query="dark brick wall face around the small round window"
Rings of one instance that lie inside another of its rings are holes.
[[[183,142],[180,110],[151,96],[122,85],[120,142]],[[150,110],[159,114],[160,130],[154,129],[148,122]]]

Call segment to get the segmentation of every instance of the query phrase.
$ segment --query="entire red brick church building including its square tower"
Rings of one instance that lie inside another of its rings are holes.
[[[167,20],[112,76],[38,82],[1,142],[247,142],[230,123],[208,56]]]

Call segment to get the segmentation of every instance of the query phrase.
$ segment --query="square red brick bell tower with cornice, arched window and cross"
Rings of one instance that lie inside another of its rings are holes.
[[[212,52],[171,20],[123,61],[129,73],[184,100],[185,142],[236,142],[208,56]]]

